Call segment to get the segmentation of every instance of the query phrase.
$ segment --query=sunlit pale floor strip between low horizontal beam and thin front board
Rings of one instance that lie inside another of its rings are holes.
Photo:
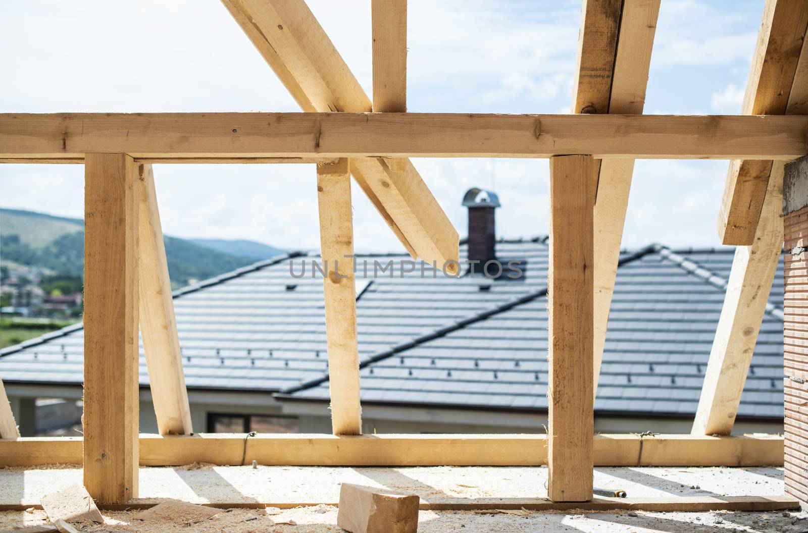
[[[423,502],[472,498],[546,497],[545,467],[214,467],[140,469],[138,502],[178,498],[192,503],[335,504],[339,484],[356,483],[418,494]],[[0,503],[36,505],[40,498],[82,482],[78,466],[0,469]],[[782,468],[598,467],[595,487],[631,498],[781,496]]]

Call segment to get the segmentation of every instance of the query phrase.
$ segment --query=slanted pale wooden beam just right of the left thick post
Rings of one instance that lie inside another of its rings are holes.
[[[191,408],[179,352],[154,171],[150,164],[139,168],[139,308],[154,413],[160,434],[191,434]]]

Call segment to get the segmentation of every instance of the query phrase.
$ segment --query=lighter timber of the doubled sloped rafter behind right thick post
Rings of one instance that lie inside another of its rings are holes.
[[[608,113],[642,114],[646,102],[648,70],[661,0],[624,2]],[[587,24],[589,21],[584,21]],[[596,23],[596,22],[595,22]],[[586,49],[582,53],[603,55],[603,50]],[[583,75],[583,74],[581,74]],[[580,85],[579,85],[580,87]],[[592,392],[597,396],[600,363],[603,361],[608,315],[620,259],[620,245],[629,205],[629,190],[634,170],[633,159],[604,159],[600,162],[595,198],[595,380]]]

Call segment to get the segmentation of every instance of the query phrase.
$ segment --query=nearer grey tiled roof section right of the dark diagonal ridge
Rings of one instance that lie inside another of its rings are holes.
[[[731,248],[671,252],[654,246],[639,257],[624,254],[609,316],[596,411],[695,413],[732,258]],[[546,263],[539,268],[546,269]],[[781,261],[743,391],[740,418],[783,416],[782,294]],[[365,365],[362,401],[547,409],[546,305],[546,296],[537,295]],[[328,384],[310,384],[281,397],[324,401]]]

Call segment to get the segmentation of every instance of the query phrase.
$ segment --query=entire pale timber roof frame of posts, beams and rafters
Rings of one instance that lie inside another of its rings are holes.
[[[660,0],[584,0],[573,115],[407,113],[406,0],[372,0],[372,101],[304,0],[222,2],[304,112],[0,115],[0,162],[86,171],[85,436],[16,438],[0,394],[0,464],[83,461],[102,502],[137,496],[138,464],[548,464],[558,502],[591,500],[595,465],[783,464],[782,438],[720,435],[780,255],[782,168],[808,153],[804,1],[767,0],[743,115],[731,116],[642,115]],[[456,262],[457,231],[408,157],[550,160],[546,437],[361,435],[354,279],[332,271],[335,435],[191,434],[151,163],[316,163],[323,258],[352,253],[352,175],[413,258]],[[637,158],[730,160],[718,231],[741,246],[690,435],[593,436]],[[160,435],[137,434],[138,325]]]

